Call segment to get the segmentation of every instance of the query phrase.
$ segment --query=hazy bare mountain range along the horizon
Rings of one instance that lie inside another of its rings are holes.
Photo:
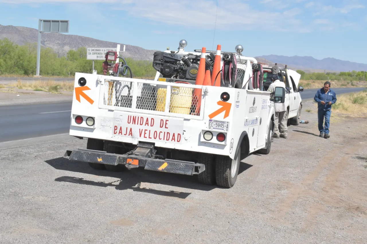
[[[12,25],[0,25],[0,39],[8,38],[18,45],[24,45],[27,42],[37,42],[36,29]],[[59,55],[65,55],[70,49],[79,47],[117,47],[116,42],[102,41],[90,37],[77,36],[62,33],[42,33],[41,45],[52,48]],[[123,47],[123,43],[121,47]],[[153,60],[153,53],[157,50],[148,50],[141,47],[126,45],[123,53],[124,57]],[[121,48],[122,49],[122,48]],[[278,56],[265,55],[255,57],[258,62],[267,63],[270,66],[278,63],[280,67],[287,64],[288,68],[294,70],[304,70],[305,72],[340,72],[340,71],[367,71],[367,64],[343,61],[334,58],[325,58],[322,60],[312,58],[310,56]]]

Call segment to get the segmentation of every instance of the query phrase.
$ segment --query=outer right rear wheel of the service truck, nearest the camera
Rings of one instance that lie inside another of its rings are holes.
[[[218,186],[231,188],[235,185],[240,169],[241,147],[237,152],[237,159],[232,160],[229,156],[217,155],[215,158],[215,181]]]

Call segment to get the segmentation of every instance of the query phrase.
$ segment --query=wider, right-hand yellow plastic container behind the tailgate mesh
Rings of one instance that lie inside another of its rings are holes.
[[[190,114],[193,88],[172,86],[170,112]]]

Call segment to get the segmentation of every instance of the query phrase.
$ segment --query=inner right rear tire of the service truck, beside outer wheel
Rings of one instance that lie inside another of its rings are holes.
[[[205,170],[197,175],[197,179],[201,184],[214,185],[215,184],[215,164],[211,154],[199,153],[198,163],[205,165]]]

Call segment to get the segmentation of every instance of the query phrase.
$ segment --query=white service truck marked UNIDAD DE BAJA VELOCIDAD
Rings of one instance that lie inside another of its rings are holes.
[[[255,151],[270,152],[275,117],[270,92],[252,86],[256,59],[239,50],[227,53],[237,60],[238,88],[195,85],[193,79],[172,82],[165,72],[173,68],[163,59],[164,70],[153,81],[76,73],[70,135],[88,141],[86,149],[66,150],[64,157],[98,170],[144,167],[198,175],[202,184],[231,188],[242,159]],[[164,55],[193,55],[195,61],[201,53],[179,48],[156,54]],[[184,76],[192,70],[188,66],[183,65],[186,73],[180,71]],[[285,89],[276,89],[275,102],[284,102]],[[201,104],[193,94],[200,94]]]

